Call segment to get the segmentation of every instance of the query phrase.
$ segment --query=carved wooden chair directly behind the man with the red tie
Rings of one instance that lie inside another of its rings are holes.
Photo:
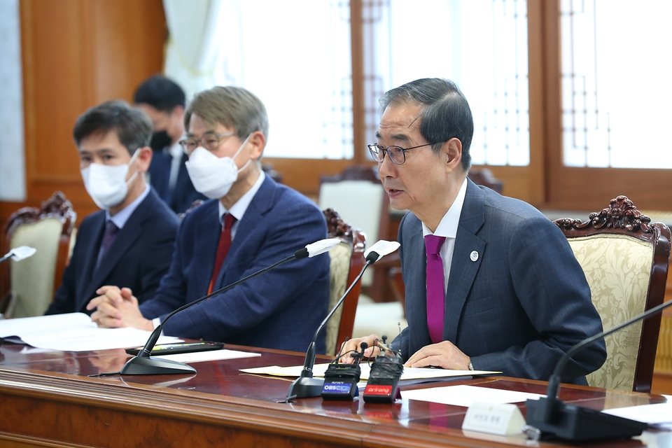
[[[330,238],[339,238],[342,243],[329,251],[329,305],[332,309],[345,293],[346,288],[364,267],[365,237],[358,229],[353,229],[343,222],[339,214],[332,209],[324,211]],[[360,283],[345,298],[343,304],[334,313],[326,328],[328,355],[337,354],[340,343],[346,337],[352,337],[352,326],[359,300]]]

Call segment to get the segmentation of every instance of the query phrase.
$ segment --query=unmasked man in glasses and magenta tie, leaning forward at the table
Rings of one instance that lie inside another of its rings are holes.
[[[566,238],[531,205],[467,179],[474,125],[454,83],[402,85],[381,110],[370,152],[392,207],[410,211],[398,237],[408,327],[393,348],[409,367],[548,379],[563,353],[602,330]],[[585,384],[605,357],[601,340],[573,356],[563,381]]]

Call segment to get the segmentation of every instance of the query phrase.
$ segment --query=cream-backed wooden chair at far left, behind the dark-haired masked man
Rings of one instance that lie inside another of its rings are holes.
[[[59,191],[42,202],[40,209],[24,207],[10,216],[4,229],[6,251],[31,246],[37,252],[26,260],[6,263],[9,292],[2,306],[7,317],[44,314],[69,260],[76,218],[72,204]]]

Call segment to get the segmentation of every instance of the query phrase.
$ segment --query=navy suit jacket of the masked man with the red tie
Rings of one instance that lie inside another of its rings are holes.
[[[209,200],[181,223],[172,265],[156,296],[141,305],[146,318],[161,317],[207,295],[221,234],[218,201]],[[327,235],[322,212],[268,176],[238,223],[215,289],[292,255]],[[305,351],[327,314],[329,255],[280,265],[165,323],[167,335]],[[318,351],[325,350],[324,335]]]

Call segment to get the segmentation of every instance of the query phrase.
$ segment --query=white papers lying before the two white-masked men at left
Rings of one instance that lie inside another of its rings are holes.
[[[20,339],[38,349],[92,351],[144,346],[151,332],[137,328],[98,328],[84,313],[25,317],[0,321],[0,337]],[[182,342],[159,337],[158,344]]]

